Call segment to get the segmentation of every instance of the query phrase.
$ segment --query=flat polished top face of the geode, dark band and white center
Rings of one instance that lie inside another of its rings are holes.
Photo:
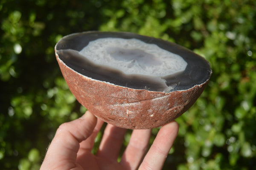
[[[56,50],[67,66],[82,75],[133,89],[184,90],[211,74],[201,56],[174,43],[131,33],[73,34]]]

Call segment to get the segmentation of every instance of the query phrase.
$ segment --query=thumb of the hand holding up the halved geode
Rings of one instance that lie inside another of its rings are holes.
[[[70,170],[76,167],[79,143],[87,139],[96,126],[97,118],[87,111],[81,118],[58,128],[40,170]]]

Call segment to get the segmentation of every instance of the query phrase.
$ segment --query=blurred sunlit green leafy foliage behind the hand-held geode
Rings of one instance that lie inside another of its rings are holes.
[[[101,30],[160,37],[212,66],[201,97],[177,118],[164,170],[255,170],[255,18],[254,0],[1,0],[1,169],[39,169],[58,126],[84,113],[54,46],[64,35]]]

